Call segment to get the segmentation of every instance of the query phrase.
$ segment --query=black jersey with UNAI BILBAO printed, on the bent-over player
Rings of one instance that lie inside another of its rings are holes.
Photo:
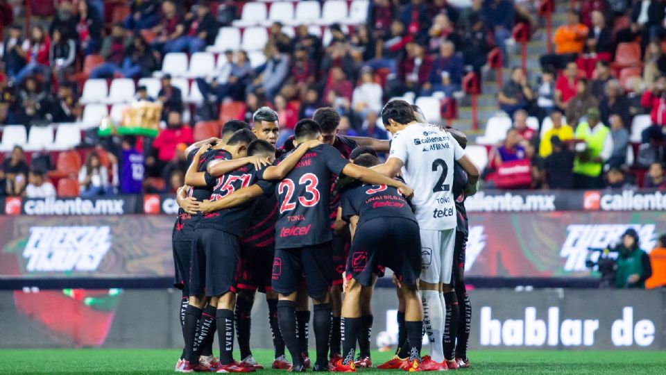
[[[360,185],[342,192],[342,217],[359,217],[359,226],[379,217],[402,217],[416,222],[407,199],[398,189],[386,185]]]

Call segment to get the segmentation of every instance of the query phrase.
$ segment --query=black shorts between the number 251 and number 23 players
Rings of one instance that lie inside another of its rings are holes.
[[[271,274],[275,248],[241,246],[241,265],[238,275],[238,288],[259,290],[266,293],[271,290]]]

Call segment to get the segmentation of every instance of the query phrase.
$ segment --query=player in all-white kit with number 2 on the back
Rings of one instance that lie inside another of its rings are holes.
[[[376,170],[394,177],[402,172],[404,180],[418,187],[412,201],[420,226],[422,269],[419,289],[425,312],[425,330],[430,340],[430,355],[422,360],[422,369],[444,369],[443,335],[445,298],[450,295],[455,242],[456,210],[452,195],[454,161],[467,172],[466,192],[474,193],[479,168],[465,155],[458,142],[446,131],[416,121],[409,103],[389,101],[382,109],[386,129],[393,133],[391,152]],[[454,296],[455,297],[455,294]],[[450,302],[452,303],[452,301]]]

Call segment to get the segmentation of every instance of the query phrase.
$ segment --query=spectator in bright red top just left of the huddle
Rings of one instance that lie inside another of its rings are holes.
[[[161,177],[164,166],[176,156],[176,146],[179,143],[192,144],[192,128],[183,125],[180,112],[169,112],[167,128],[162,129],[153,140],[153,152],[146,158],[146,172],[148,176]]]

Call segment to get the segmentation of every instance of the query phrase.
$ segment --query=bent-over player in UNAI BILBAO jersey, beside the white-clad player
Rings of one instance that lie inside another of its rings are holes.
[[[364,154],[355,165],[374,167],[376,156]],[[361,332],[361,294],[373,288],[378,266],[395,272],[406,305],[409,335],[409,360],[404,369],[420,369],[423,310],[416,288],[421,272],[420,239],[416,217],[409,203],[395,188],[386,185],[360,185],[345,190],[341,199],[342,216],[350,222],[352,248],[346,265],[347,287],[343,301],[343,354],[333,371],[355,372],[354,354]]]

